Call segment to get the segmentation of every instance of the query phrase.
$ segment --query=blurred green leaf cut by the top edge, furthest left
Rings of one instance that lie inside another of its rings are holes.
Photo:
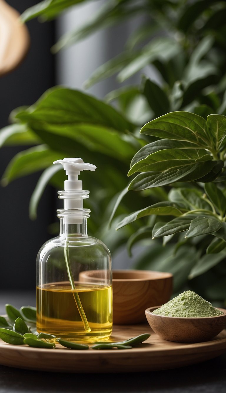
[[[26,9],[21,15],[21,19],[23,22],[27,22],[27,20],[41,16],[43,20],[50,20],[64,11],[64,9],[84,1],[85,0],[44,0]]]

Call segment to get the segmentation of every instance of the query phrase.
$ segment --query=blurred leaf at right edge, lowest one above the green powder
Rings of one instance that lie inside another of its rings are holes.
[[[189,279],[197,277],[210,270],[213,266],[217,265],[226,257],[226,252],[221,251],[218,254],[206,254],[199,259],[197,264],[191,269]]]

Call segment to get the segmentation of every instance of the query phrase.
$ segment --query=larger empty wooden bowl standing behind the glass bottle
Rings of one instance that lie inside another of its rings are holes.
[[[145,310],[166,303],[172,293],[171,273],[150,270],[113,270],[113,323],[144,323]]]

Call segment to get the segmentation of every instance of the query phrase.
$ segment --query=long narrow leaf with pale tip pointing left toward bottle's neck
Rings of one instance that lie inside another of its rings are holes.
[[[166,202],[158,202],[152,206],[148,206],[148,208],[144,208],[134,213],[130,214],[129,216],[125,217],[122,221],[120,221],[117,225],[117,230],[122,228],[131,222],[148,215],[157,214],[160,216],[176,216],[179,217],[182,215],[182,212],[175,206],[174,203]]]

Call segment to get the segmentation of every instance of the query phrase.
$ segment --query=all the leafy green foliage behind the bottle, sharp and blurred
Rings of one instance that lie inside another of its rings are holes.
[[[83,2],[44,0],[26,10],[22,20],[51,20]],[[13,111],[13,124],[1,131],[0,144],[36,146],[11,160],[2,182],[44,169],[31,197],[30,216],[35,218],[46,184],[62,188],[62,173],[51,163],[79,151],[99,168],[95,184],[84,174],[94,201],[89,206],[92,232],[112,252],[126,241],[129,252],[138,241],[145,242],[136,267],[171,271],[175,291],[189,285],[205,298],[223,301],[226,4],[111,0],[82,28],[60,38],[52,50],[137,15],[142,22],[125,50],[85,83],[88,88],[117,74],[117,80],[127,85],[109,92],[105,102],[56,87],[32,107]],[[129,78],[144,67],[140,85],[131,86]],[[113,235],[115,226],[121,229]]]

